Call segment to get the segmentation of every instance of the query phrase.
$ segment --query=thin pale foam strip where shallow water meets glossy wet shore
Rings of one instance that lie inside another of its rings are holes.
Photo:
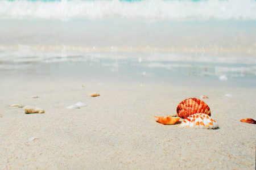
[[[0,52],[9,53],[172,53],[172,54],[185,54],[199,56],[210,55],[210,56],[225,56],[232,54],[233,56],[255,56],[256,48],[252,46],[241,47],[236,46],[232,48],[223,48],[217,45],[209,46],[184,46],[175,47],[170,46],[168,48],[162,48],[157,46],[82,46],[82,45],[34,45],[34,44],[14,44],[5,45],[0,44]]]

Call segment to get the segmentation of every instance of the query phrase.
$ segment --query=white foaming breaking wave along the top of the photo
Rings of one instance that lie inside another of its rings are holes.
[[[7,19],[256,20],[254,0],[229,1],[0,1]]]

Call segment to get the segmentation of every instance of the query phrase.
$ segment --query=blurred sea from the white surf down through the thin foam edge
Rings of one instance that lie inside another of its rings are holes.
[[[256,53],[255,0],[0,1],[0,50]]]

